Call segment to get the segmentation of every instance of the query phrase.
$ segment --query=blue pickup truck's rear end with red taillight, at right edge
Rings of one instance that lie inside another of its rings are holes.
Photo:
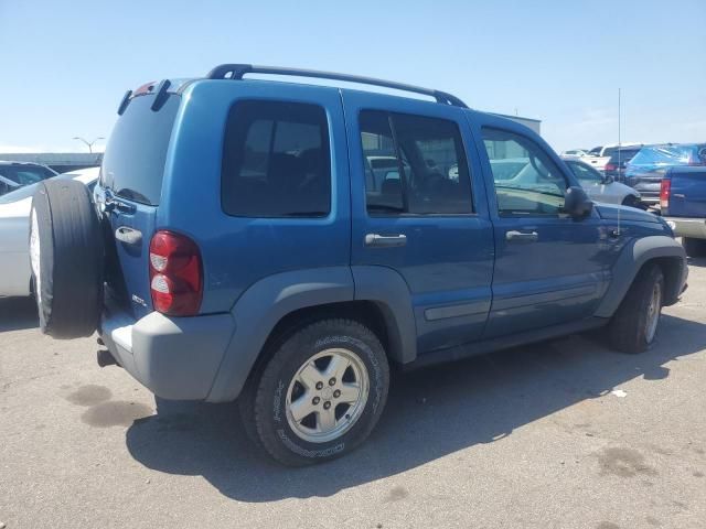
[[[662,216],[689,257],[706,257],[706,166],[672,168],[662,179]]]

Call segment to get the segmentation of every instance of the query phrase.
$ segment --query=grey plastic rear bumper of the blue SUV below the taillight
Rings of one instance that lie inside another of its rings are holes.
[[[235,330],[231,314],[135,320],[104,310],[99,334],[118,363],[163,399],[204,400]]]

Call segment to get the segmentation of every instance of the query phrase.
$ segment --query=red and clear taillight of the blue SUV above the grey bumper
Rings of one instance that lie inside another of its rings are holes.
[[[156,311],[193,316],[203,296],[199,247],[189,237],[160,230],[150,241],[150,292]]]

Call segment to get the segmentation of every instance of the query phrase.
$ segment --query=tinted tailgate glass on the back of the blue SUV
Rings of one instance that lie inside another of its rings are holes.
[[[181,97],[170,95],[157,111],[150,108],[153,100],[138,96],[118,118],[103,156],[100,183],[124,198],[156,206]]]

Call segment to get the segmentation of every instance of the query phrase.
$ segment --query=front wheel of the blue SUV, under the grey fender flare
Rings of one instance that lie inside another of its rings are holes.
[[[664,276],[648,264],[634,279],[608,326],[610,345],[622,353],[642,353],[654,342],[664,300]]]

